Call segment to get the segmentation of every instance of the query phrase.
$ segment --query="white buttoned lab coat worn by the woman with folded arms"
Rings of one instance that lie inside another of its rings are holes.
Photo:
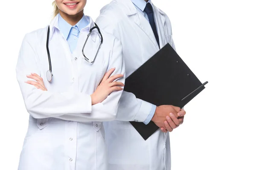
[[[46,79],[49,62],[46,49],[47,28],[26,34],[17,62],[17,80],[29,116],[29,127],[20,154],[19,170],[107,170],[105,134],[102,121],[116,118],[122,91],[111,93],[102,103],[91,105],[106,71],[123,74],[122,45],[102,31],[102,47],[93,64],[82,55],[88,28],[81,30],[73,54],[58,28],[58,17],[50,23],[49,52],[52,82]],[[84,48],[87,58],[96,55],[100,37],[90,35]],[[36,73],[44,79],[48,91],[25,83],[26,75]],[[118,81],[124,82],[124,78]],[[26,114],[24,114],[25,116]]]

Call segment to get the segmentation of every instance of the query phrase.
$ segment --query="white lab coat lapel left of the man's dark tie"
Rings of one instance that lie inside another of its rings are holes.
[[[131,2],[131,0],[116,0],[120,5],[122,10],[127,14],[129,20],[131,22],[136,23],[136,25],[146,34],[146,36],[149,38],[150,42],[153,43],[154,47],[159,50],[157,40],[154,37],[154,32],[148,22],[148,20],[141,15],[140,13],[137,13],[137,9],[134,6],[134,4]],[[146,40],[143,40],[146,41]]]

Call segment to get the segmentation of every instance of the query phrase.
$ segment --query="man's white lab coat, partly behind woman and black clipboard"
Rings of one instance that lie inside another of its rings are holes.
[[[154,19],[160,48],[166,43],[175,48],[170,20],[156,6]],[[131,0],[113,0],[102,8],[96,23],[121,40],[127,77],[159,51],[148,20]],[[150,111],[151,104],[124,91],[117,119],[144,122]],[[157,130],[145,141],[129,122],[122,121],[106,122],[110,170],[170,170],[169,133]]]

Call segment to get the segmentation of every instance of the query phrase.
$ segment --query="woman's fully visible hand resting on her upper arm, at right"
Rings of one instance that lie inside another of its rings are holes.
[[[123,74],[117,74],[114,76],[110,75],[115,71],[115,68],[111,68],[105,76],[103,77],[101,83],[99,84],[96,91],[91,95],[92,98],[92,105],[96,105],[97,103],[102,102],[105,100],[109,94],[113,91],[121,91],[123,90],[123,86],[125,86],[122,82],[114,82],[115,79],[119,79],[123,77]],[[122,86],[122,87],[120,87]]]

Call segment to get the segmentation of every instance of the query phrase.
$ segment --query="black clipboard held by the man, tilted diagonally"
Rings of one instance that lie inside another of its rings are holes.
[[[204,90],[195,74],[167,43],[140,68],[125,79],[127,92],[154,105],[174,105],[183,108]],[[159,127],[150,122],[130,122],[143,139],[148,139]]]

